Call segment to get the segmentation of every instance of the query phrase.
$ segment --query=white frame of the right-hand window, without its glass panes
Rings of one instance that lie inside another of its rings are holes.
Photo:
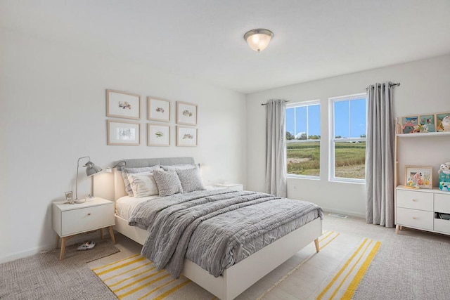
[[[334,103],[345,100],[356,100],[361,99],[362,97],[366,98],[366,116],[367,116],[367,93],[356,93],[347,96],[339,96],[339,97],[331,97],[328,98],[328,111],[330,112],[329,119],[329,131],[330,132],[330,147],[329,147],[329,159],[328,159],[328,180],[329,181],[338,181],[338,182],[347,182],[347,183],[366,183],[366,178],[358,179],[358,178],[345,178],[345,177],[335,177],[335,142],[349,142],[356,143],[365,141],[367,146],[367,130],[366,130],[366,138],[335,138],[335,110]],[[367,117],[366,117],[367,118]],[[351,124],[349,124],[351,126]],[[366,120],[367,126],[367,120]]]

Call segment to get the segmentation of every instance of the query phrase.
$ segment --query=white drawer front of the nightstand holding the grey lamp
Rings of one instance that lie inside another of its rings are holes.
[[[113,226],[114,202],[80,209],[62,211],[61,236],[75,235],[89,230]]]

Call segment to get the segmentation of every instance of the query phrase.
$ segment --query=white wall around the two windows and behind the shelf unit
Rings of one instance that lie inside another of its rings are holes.
[[[381,81],[401,83],[394,88],[396,116],[450,112],[450,55],[252,93],[247,97],[247,188],[264,191],[265,107],[261,103],[270,98],[286,98],[291,103],[320,99],[320,180],[288,178],[288,197],[315,202],[328,211],[365,216],[364,184],[328,181],[328,98],[365,93],[368,85]],[[437,185],[439,164],[450,162],[449,136],[403,139],[399,149],[400,183],[404,183],[405,164],[413,164],[434,167],[434,183]]]

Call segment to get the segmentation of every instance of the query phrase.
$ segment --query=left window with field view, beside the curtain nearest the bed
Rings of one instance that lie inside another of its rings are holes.
[[[288,174],[320,175],[321,106],[319,100],[286,107]]]

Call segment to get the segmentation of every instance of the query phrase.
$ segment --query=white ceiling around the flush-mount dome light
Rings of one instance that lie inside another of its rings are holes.
[[[0,26],[242,93],[450,53],[450,0],[0,0]]]

